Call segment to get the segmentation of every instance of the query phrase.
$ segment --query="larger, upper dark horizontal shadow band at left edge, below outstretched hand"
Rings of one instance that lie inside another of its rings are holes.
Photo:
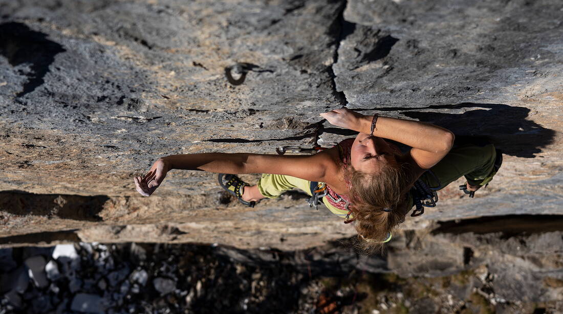
[[[23,191],[0,192],[0,210],[26,216],[47,216],[63,219],[101,221],[108,196],[33,194]]]

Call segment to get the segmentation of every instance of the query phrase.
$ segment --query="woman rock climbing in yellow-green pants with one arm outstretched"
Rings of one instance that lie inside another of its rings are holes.
[[[461,189],[471,193],[497,172],[502,155],[490,143],[454,145],[454,134],[433,124],[362,115],[345,108],[320,114],[333,125],[358,131],[330,149],[314,155],[205,153],[160,158],[148,174],[136,177],[137,191],[150,196],[171,169],[215,172],[220,185],[238,200],[254,206],[297,187],[326,207],[354,222],[358,244],[366,250],[382,248],[392,230],[416,205],[435,205],[435,190],[461,176]],[[410,146],[401,152],[392,140]],[[235,174],[263,173],[257,185]],[[311,203],[311,202],[310,202]]]

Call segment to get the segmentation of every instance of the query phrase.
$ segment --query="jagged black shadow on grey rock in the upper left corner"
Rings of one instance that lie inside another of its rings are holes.
[[[45,81],[43,77],[49,71],[49,65],[55,61],[55,55],[65,52],[56,42],[46,39],[47,34],[35,32],[23,23],[0,24],[0,54],[8,59],[12,66],[30,64],[28,77],[23,91],[16,97],[33,92]]]

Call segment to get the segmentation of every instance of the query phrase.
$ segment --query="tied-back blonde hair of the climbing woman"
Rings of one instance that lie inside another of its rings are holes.
[[[408,212],[406,194],[414,181],[412,168],[408,163],[390,162],[377,173],[363,173],[350,165],[347,177],[354,227],[359,234],[355,245],[364,253],[382,250],[383,242]]]

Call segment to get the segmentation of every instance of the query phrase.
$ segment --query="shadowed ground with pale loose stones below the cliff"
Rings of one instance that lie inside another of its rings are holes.
[[[556,313],[495,295],[487,267],[401,278],[353,259],[207,245],[77,243],[0,249],[0,313]],[[292,261],[293,259],[293,261]],[[298,260],[300,259],[300,260]],[[327,270],[332,268],[332,272]],[[529,311],[528,311],[529,310]]]

